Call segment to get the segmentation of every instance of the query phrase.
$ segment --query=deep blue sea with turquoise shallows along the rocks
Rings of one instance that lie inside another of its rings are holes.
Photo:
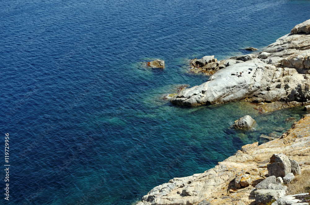
[[[187,108],[161,98],[207,80],[188,74],[188,59],[261,49],[309,11],[309,1],[285,0],[2,0],[0,147],[4,158],[9,133],[10,158],[0,165],[11,166],[9,201],[0,172],[0,204],[131,204],[260,134],[281,135],[301,107],[258,114],[242,102]],[[154,59],[166,68],[141,63]],[[253,132],[228,129],[248,114]]]

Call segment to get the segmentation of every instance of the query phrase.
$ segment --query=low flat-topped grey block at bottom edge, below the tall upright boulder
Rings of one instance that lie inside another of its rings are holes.
[[[284,190],[272,190],[272,189],[262,189],[256,190],[255,193],[255,202],[257,205],[265,205],[271,200],[277,200],[285,196]]]

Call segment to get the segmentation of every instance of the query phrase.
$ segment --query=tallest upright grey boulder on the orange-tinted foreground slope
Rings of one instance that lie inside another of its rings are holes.
[[[270,158],[270,163],[267,164],[267,169],[269,176],[283,178],[291,172],[290,160],[282,153],[274,154]]]

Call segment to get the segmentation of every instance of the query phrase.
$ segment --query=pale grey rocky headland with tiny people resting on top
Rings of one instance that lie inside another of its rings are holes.
[[[310,100],[310,20],[296,25],[258,55],[218,62],[214,56],[195,61],[210,76],[170,101],[199,106],[247,99],[249,102],[307,102]]]

